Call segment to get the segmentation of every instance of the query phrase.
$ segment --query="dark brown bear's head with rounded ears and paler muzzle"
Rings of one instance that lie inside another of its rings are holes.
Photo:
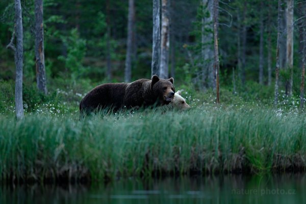
[[[173,97],[175,88],[173,86],[174,79],[160,79],[157,75],[153,75],[151,78],[151,89],[157,94],[159,103],[161,105],[169,104]]]

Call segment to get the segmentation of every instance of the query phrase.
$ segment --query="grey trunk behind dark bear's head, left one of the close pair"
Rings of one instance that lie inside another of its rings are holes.
[[[160,0],[153,0],[153,34],[152,34],[151,75],[154,75],[154,74],[159,75],[160,53],[161,53]]]

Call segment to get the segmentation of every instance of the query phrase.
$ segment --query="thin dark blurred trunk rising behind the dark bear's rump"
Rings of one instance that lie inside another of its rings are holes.
[[[106,39],[106,49],[107,49],[107,54],[106,54],[106,75],[107,79],[110,82],[112,80],[112,61],[111,61],[111,20],[110,20],[110,0],[107,0],[106,2],[106,10],[107,10],[107,39]]]

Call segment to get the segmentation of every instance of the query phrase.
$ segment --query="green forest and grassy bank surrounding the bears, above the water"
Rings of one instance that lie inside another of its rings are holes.
[[[0,180],[306,170],[305,0],[2,0]],[[100,112],[174,78],[192,108]]]

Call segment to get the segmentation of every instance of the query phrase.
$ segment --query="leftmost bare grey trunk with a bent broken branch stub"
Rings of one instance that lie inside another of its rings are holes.
[[[16,37],[16,46],[13,44]],[[15,0],[15,27],[10,43],[7,48],[14,52],[16,65],[15,80],[15,111],[16,118],[23,118],[23,101],[22,101],[22,67],[23,67],[23,32],[22,32],[22,14],[20,0]]]

